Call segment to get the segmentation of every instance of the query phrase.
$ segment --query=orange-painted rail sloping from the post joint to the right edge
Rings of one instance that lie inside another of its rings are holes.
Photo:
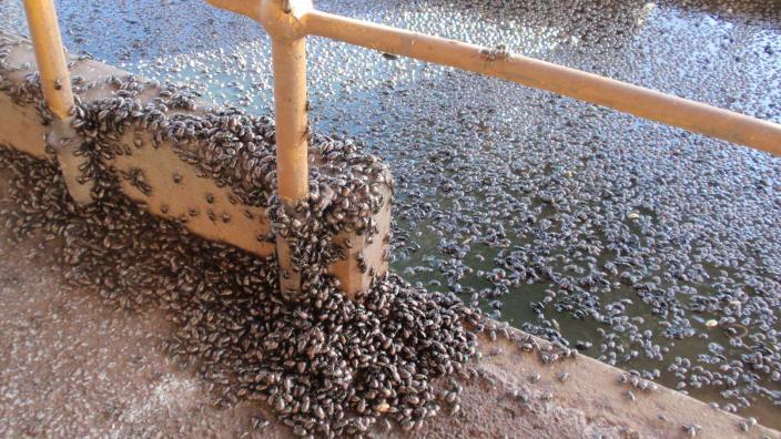
[[[651,121],[781,155],[781,125],[532,58],[321,11],[310,34],[551,91]]]

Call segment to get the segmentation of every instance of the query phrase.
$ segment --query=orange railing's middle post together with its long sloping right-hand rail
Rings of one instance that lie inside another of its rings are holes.
[[[575,69],[314,10],[311,0],[206,0],[260,22],[272,38],[278,194],[287,207],[308,194],[306,35],[505,79],[696,133],[781,154],[781,125]],[[293,213],[288,210],[288,213]],[[301,288],[292,249],[277,236],[288,297]]]

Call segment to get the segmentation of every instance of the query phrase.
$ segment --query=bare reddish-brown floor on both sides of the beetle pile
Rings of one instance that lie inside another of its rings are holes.
[[[0,177],[0,208],[8,208]],[[9,244],[0,227],[0,437],[291,437],[263,401],[216,409],[205,384],[179,370],[161,348],[172,328],[162,310],[126,314],[88,289],[63,287],[51,263],[57,241]],[[579,357],[542,366],[504,338],[481,340],[481,377],[464,385],[462,411],[439,415],[422,438],[674,438],[771,437],[741,431],[733,415],[661,388],[635,391],[619,370]],[[561,379],[561,372],[568,372]],[[539,380],[530,379],[539,374]],[[528,397],[528,402],[510,395]],[[377,427],[375,437],[408,437]]]

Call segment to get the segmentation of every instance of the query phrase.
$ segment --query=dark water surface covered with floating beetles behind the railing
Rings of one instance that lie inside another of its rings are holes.
[[[781,121],[779,2],[317,6]],[[270,111],[268,41],[248,20],[197,1],[58,8],[73,52]],[[18,2],[0,23],[23,30]],[[396,174],[407,280],[778,426],[779,159],[339,43],[310,53],[317,130]]]

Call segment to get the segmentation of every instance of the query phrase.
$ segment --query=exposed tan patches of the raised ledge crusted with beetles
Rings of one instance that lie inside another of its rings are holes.
[[[0,92],[0,143],[36,157],[53,160],[45,145],[51,125],[45,114],[37,109],[40,91],[27,79],[34,73],[32,47],[19,38],[0,34],[2,48],[10,52],[0,64],[0,83],[7,92],[14,90],[17,95]],[[128,73],[97,61],[71,58],[71,75],[78,78],[74,93],[83,103],[90,103],[120,96],[118,88],[106,80],[125,78]],[[162,91],[160,85],[148,83],[136,99],[145,106]],[[195,105],[192,110],[169,109],[163,112],[169,120],[178,114],[203,116],[203,109],[209,104],[196,99]],[[193,162],[176,154],[171,140],[153,140],[151,130],[128,125],[124,134],[116,139],[119,150],[124,153],[105,161],[131,200],[145,203],[155,215],[180,221],[207,239],[224,242],[258,256],[274,254],[274,235],[265,207],[243,204],[232,187],[219,184],[199,172]],[[313,169],[322,170],[324,164],[333,164],[332,160],[316,154],[311,154],[310,161]],[[252,167],[252,164],[241,165]],[[145,184],[139,184],[139,181]],[[367,288],[373,275],[382,275],[388,268],[383,256],[389,233],[392,188],[387,184],[382,186],[384,205],[373,216],[378,235],[342,233],[335,237],[335,242],[343,246],[345,258],[332,264],[328,270],[351,297]]]

